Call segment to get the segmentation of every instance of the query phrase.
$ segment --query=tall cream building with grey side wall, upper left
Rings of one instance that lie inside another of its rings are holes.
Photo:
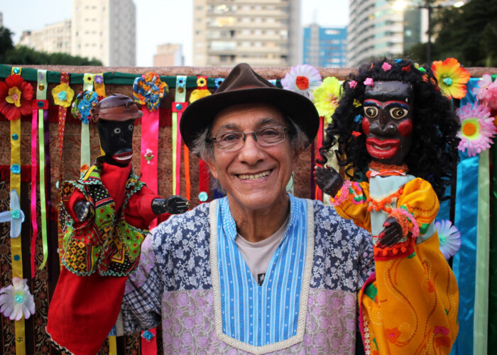
[[[72,0],[71,54],[106,66],[136,65],[133,0]]]

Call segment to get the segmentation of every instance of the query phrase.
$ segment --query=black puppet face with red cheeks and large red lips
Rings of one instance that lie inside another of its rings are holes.
[[[366,149],[373,160],[402,165],[413,135],[413,88],[404,82],[375,82],[364,90]]]

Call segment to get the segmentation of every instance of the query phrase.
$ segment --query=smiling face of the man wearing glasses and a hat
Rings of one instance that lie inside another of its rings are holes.
[[[210,137],[226,131],[253,132],[268,126],[288,123],[283,114],[268,104],[240,104],[217,114]],[[285,186],[295,167],[298,153],[285,139],[263,147],[252,135],[238,151],[226,151],[214,143],[214,157],[207,163],[214,178],[221,183],[229,198],[230,208],[241,210],[268,209],[286,203]]]

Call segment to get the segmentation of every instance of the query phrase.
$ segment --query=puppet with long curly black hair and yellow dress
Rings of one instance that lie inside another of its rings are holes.
[[[434,222],[457,164],[458,130],[429,67],[379,60],[344,82],[320,163],[335,153],[351,180],[331,167],[315,168],[315,177],[337,213],[371,233],[376,275],[359,293],[366,350],[446,354],[457,335],[457,284]]]

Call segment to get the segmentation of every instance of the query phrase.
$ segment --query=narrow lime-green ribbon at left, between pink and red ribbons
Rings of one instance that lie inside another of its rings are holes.
[[[36,99],[47,99],[47,71],[37,70],[36,80],[38,89],[36,90]],[[40,270],[45,267],[48,259],[48,236],[47,236],[47,207],[45,198],[45,133],[43,127],[43,109],[38,110],[38,156],[40,160],[40,207],[41,207],[41,240],[43,242],[43,261]],[[32,251],[33,252],[33,251]]]

